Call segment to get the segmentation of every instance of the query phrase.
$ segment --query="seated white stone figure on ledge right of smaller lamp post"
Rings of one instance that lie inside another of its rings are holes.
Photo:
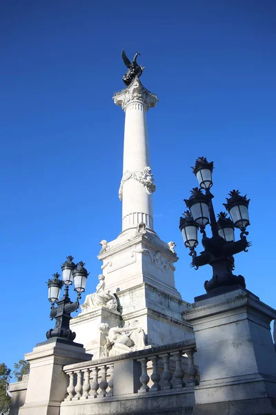
[[[111,291],[104,291],[106,283],[104,275],[99,275],[99,284],[96,292],[86,295],[86,300],[81,306],[82,311],[88,311],[90,308],[105,306],[110,310],[117,310],[117,299]]]

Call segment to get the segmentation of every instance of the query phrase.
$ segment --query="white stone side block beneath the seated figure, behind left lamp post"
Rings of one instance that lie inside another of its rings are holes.
[[[101,356],[101,348],[106,344],[106,334],[99,331],[99,324],[107,323],[110,327],[121,324],[119,311],[112,311],[100,306],[88,311],[81,311],[70,321],[70,329],[75,331],[76,340],[85,347],[87,353],[92,353],[94,359]]]

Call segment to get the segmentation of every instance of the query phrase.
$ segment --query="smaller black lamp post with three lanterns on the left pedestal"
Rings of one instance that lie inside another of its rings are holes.
[[[88,272],[84,268],[85,264],[79,261],[78,264],[73,262],[73,257],[67,257],[61,265],[62,280],[59,279],[59,273],[53,275],[54,278],[48,280],[48,299],[51,303],[50,319],[55,318],[56,324],[54,329],[50,329],[46,333],[46,337],[50,338],[63,338],[67,340],[74,340],[76,333],[72,333],[69,327],[71,315],[73,311],[77,311],[79,308],[79,299],[81,293],[85,291],[86,280],[88,278]],[[68,292],[69,286],[74,282],[74,291],[77,291],[77,301],[71,302]],[[63,297],[59,300],[62,286],[65,286]],[[57,307],[55,307],[57,303]]]

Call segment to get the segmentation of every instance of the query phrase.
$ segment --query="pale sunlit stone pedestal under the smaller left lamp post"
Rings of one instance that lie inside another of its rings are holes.
[[[92,355],[86,353],[82,344],[52,338],[39,343],[25,358],[30,362],[30,376],[19,415],[59,415],[68,387],[63,366],[91,360]]]

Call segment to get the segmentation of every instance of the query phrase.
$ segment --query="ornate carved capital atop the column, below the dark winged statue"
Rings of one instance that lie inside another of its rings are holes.
[[[146,111],[148,111],[150,107],[155,107],[158,102],[157,96],[148,91],[148,89],[141,84],[138,77],[135,77],[131,84],[126,88],[119,92],[115,92],[113,100],[115,104],[120,105],[124,111],[126,111],[130,102],[142,104]]]

